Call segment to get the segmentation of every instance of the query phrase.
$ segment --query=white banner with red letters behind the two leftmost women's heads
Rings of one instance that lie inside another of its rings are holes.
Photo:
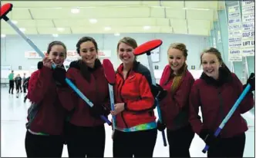
[[[42,51],[42,52],[43,52],[43,54],[46,54],[46,51]],[[67,54],[67,57],[66,57],[67,59],[68,58],[72,58],[72,59],[80,58],[79,54],[76,53],[75,50],[68,50],[66,54]],[[98,58],[110,58],[110,57],[111,57],[111,51],[109,51],[109,50],[98,51]],[[35,51],[25,51],[25,58],[36,59],[36,58],[41,58],[41,57]]]

